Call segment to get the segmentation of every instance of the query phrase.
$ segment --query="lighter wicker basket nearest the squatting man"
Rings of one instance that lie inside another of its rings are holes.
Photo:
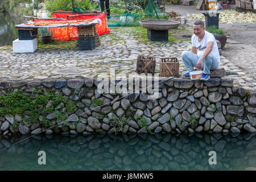
[[[160,76],[170,77],[179,75],[179,65],[176,57],[161,58]]]

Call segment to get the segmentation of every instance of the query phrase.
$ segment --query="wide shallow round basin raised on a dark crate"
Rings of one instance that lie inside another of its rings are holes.
[[[162,19],[154,19],[154,20],[142,20],[139,22],[141,27],[147,28],[150,30],[171,30],[179,27],[180,23],[174,20],[162,20]]]

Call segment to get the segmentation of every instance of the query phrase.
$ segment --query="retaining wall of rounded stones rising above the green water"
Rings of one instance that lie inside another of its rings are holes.
[[[50,99],[43,106],[46,109],[52,107],[52,112],[42,111],[36,121],[30,119],[30,122],[28,111],[6,115],[1,111],[0,134],[39,133],[60,122],[56,112],[65,115],[68,122],[65,126],[55,126],[43,133],[88,135],[118,133],[117,130],[123,133],[256,132],[256,92],[233,86],[232,78],[224,74],[224,69],[219,69],[204,82],[184,78],[162,82],[156,100],[148,100],[147,93],[129,96],[100,94],[97,85],[101,81],[89,78],[0,81],[2,96],[20,89],[26,96],[35,98],[34,91],[42,90],[42,94],[60,94],[75,106],[75,109],[67,111],[68,102],[55,105]],[[103,106],[98,106],[100,104],[97,105],[94,100],[101,100]],[[1,108],[5,107],[2,100],[0,104]],[[43,118],[51,124],[47,128],[43,126]]]

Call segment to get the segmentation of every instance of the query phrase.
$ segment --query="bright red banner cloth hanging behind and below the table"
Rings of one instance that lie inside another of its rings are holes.
[[[68,15],[85,15],[86,16],[75,16],[68,17]],[[93,15],[90,15],[93,14]],[[97,14],[97,15],[95,15]],[[87,16],[88,15],[88,16]],[[108,25],[106,24],[106,14],[105,13],[94,13],[94,12],[84,12],[84,13],[73,13],[72,11],[54,11],[52,13],[52,18],[64,18],[68,20],[77,20],[77,19],[101,19],[100,23],[96,24],[96,29],[98,35],[103,35],[110,32]],[[33,19],[34,22],[40,21],[58,21],[58,20],[40,20]],[[56,27],[54,28],[52,38],[55,40],[76,40],[78,36],[77,27]]]

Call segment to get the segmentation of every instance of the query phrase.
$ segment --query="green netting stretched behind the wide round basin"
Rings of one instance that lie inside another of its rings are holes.
[[[152,0],[148,1],[144,14],[126,13],[122,15],[108,16],[108,27],[139,26],[143,19],[159,19],[161,13]]]

